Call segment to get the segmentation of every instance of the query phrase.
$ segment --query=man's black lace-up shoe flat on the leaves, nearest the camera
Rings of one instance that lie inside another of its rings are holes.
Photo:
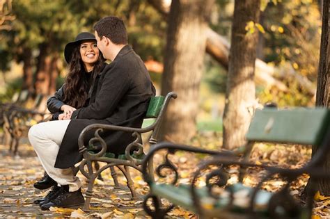
[[[61,208],[77,208],[85,204],[85,199],[80,188],[74,192],[69,192],[68,190],[69,189],[63,188],[57,197],[46,204],[42,204],[41,209],[48,210],[51,206]]]

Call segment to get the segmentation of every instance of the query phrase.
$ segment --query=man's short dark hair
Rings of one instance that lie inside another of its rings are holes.
[[[105,36],[114,44],[127,44],[126,27],[119,17],[103,17],[94,25],[94,30],[100,38]]]

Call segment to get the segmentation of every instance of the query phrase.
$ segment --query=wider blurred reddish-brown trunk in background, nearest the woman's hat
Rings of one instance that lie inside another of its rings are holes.
[[[51,58],[49,56],[49,47],[47,44],[41,44],[35,83],[37,94],[49,95],[50,66]]]

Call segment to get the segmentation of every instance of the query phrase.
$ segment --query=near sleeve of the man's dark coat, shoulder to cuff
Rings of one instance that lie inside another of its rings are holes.
[[[125,67],[113,66],[104,72],[104,79],[95,102],[79,108],[72,113],[71,119],[104,120],[116,109],[118,102],[129,88],[129,75]]]

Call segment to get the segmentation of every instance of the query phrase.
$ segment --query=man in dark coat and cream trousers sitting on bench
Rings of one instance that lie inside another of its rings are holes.
[[[94,29],[97,47],[112,62],[97,75],[89,105],[67,115],[69,120],[36,124],[29,131],[31,145],[47,174],[61,185],[54,186],[47,200],[41,202],[42,210],[84,204],[80,181],[70,168],[81,161],[77,143],[81,130],[95,123],[141,127],[150,97],[155,95],[143,61],[127,44],[123,21],[104,17]],[[123,153],[132,142],[132,133],[108,131],[102,137],[108,151],[116,154]]]

